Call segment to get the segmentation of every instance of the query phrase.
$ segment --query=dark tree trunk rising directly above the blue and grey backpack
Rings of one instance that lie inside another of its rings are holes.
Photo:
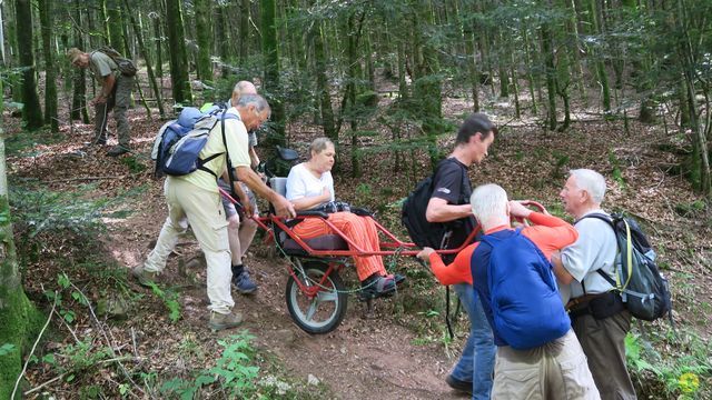
[[[180,0],[166,0],[166,26],[170,47],[170,81],[176,104],[192,103],[190,77],[188,76],[188,54],[186,33],[182,26]]]

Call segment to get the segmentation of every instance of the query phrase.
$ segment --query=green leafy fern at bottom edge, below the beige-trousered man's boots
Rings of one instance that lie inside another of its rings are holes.
[[[250,364],[255,352],[250,344],[254,338],[243,331],[226,340],[218,340],[224,350],[215,367],[199,371],[189,380],[174,378],[164,382],[159,389],[161,394],[189,400],[208,384],[220,387],[229,399],[245,399],[255,394],[259,368]]]

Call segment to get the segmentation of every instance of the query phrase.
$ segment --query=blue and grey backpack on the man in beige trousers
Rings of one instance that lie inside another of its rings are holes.
[[[222,153],[211,154],[205,159],[199,158],[198,154],[218,122],[222,122],[222,140],[227,149],[224,121],[239,120],[239,117],[227,114],[226,111],[226,109],[212,108],[207,113],[202,113],[197,108],[187,107],[182,109],[177,120],[165,123],[158,131],[151,152],[151,158],[156,161],[155,176],[157,178],[164,174],[180,177],[196,170],[215,174],[204,166]]]

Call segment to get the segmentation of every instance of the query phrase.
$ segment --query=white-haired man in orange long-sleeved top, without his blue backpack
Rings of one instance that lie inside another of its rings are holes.
[[[554,251],[575,242],[578,237],[574,227],[562,219],[534,212],[516,201],[507,201],[506,192],[496,184],[485,184],[475,189],[471,204],[487,236],[512,230],[511,217],[528,219],[534,226],[522,229],[521,233],[547,259]],[[431,262],[433,272],[441,283],[467,282],[478,292],[497,346],[492,398],[600,399],[581,344],[571,329],[558,339],[527,350],[510,347],[498,334],[493,323],[487,288],[488,266],[473,264],[473,259],[477,259],[473,258],[473,254],[478,246],[479,242],[465,248],[449,266],[445,266],[431,248],[423,249],[418,257]],[[479,281],[473,279],[473,271]],[[561,307],[563,309],[563,304]],[[567,320],[565,316],[563,318]]]

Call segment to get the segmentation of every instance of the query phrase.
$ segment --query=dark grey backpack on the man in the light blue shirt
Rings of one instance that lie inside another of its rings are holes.
[[[606,221],[615,232],[619,243],[615,280],[600,269],[596,272],[621,293],[631,314],[654,321],[669,313],[672,320],[670,284],[655,264],[655,251],[637,222],[620,213],[611,217],[593,213],[584,218]]]

